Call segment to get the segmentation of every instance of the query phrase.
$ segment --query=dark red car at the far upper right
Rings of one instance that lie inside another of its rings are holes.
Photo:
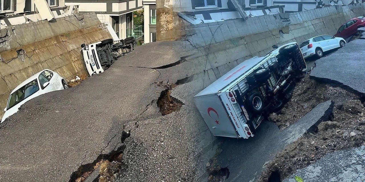
[[[365,27],[365,17],[363,16],[358,16],[343,24],[338,29],[335,37],[342,37],[343,39],[347,39],[351,35],[354,35],[357,32],[357,29],[360,27]]]

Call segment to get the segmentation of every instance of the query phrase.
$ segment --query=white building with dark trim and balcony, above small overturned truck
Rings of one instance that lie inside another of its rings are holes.
[[[66,5],[78,5],[79,12],[95,12],[103,23],[112,25],[120,39],[143,35],[143,26],[133,25],[133,12],[143,8],[142,0],[65,0]]]

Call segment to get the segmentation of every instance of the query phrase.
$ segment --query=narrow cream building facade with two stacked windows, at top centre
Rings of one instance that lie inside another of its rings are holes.
[[[144,43],[156,41],[156,0],[143,1]]]

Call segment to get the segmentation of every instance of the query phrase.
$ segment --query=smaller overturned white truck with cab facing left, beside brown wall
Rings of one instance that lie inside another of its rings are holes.
[[[93,44],[82,44],[81,55],[89,76],[100,74],[108,69],[117,58],[131,52],[136,45],[134,37],[114,43],[113,39],[105,39]]]

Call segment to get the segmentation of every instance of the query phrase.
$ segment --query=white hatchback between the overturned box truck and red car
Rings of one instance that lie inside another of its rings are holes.
[[[321,58],[323,56],[323,52],[343,47],[345,44],[345,39],[341,37],[320,35],[304,41],[299,47],[304,59],[313,55]]]

